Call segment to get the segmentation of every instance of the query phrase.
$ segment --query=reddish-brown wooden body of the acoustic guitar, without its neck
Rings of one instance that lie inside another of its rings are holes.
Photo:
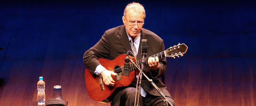
[[[104,58],[99,58],[98,60],[107,70],[114,70],[124,66],[124,58],[126,58],[126,54],[121,54],[114,60],[107,60]],[[129,56],[129,58],[135,60],[132,56]],[[133,82],[135,76],[134,71],[130,71],[129,76],[124,76],[122,71],[118,72],[117,74],[118,75],[116,76],[112,76],[113,80],[115,80],[115,85],[106,86],[101,75],[92,76],[91,72],[88,70],[88,68],[86,68],[85,82],[90,98],[98,102],[111,102],[112,98],[114,98],[115,94],[119,91],[118,87],[122,88],[130,85]]]

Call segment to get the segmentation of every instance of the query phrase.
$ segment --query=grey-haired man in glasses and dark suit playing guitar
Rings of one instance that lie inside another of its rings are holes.
[[[142,59],[140,41],[147,39],[147,56],[164,51],[164,41],[153,32],[142,28],[146,17],[144,7],[139,3],[130,3],[124,10],[122,21],[124,25],[107,30],[100,41],[84,53],[84,64],[91,70],[91,74],[102,75],[103,82],[107,86],[114,86],[115,80],[112,76],[117,73],[106,70],[98,58],[108,58],[114,60],[117,56],[132,51],[137,60]],[[132,47],[131,47],[132,46]],[[148,58],[148,64],[144,66],[143,72],[156,83],[166,98],[174,105],[170,93],[166,86],[157,78],[166,72],[166,58]],[[134,106],[136,86],[126,87],[120,90],[113,98],[111,106]],[[138,90],[137,90],[138,91]],[[139,106],[164,106],[164,98],[150,84],[148,80],[142,78],[141,95]]]

